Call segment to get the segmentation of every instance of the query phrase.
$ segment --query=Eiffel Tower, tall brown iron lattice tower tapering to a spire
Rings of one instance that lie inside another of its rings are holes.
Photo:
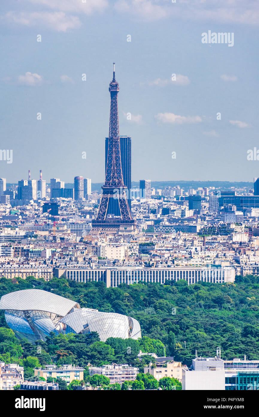
[[[116,233],[121,226],[124,226],[125,231],[130,231],[135,228],[136,224],[132,219],[127,200],[127,193],[129,191],[125,186],[122,174],[118,117],[119,84],[115,80],[115,66],[109,91],[111,95],[111,108],[105,185],[102,186],[102,198],[96,219],[92,221],[92,233]],[[118,216],[110,214],[112,213],[110,207],[114,204],[115,198],[118,198],[117,201],[119,203]]]

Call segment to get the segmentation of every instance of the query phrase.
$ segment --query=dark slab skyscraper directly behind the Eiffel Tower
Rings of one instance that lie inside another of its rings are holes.
[[[107,155],[108,155],[108,143],[109,138],[105,138],[105,167],[107,166]],[[122,176],[123,182],[127,190],[125,189],[125,193],[127,194],[127,199],[129,203],[129,208],[131,210],[131,138],[128,136],[120,136],[120,156],[122,161]],[[110,214],[115,214],[115,216],[120,216],[120,207],[119,203],[116,200],[115,203],[110,204],[110,210],[112,209]]]

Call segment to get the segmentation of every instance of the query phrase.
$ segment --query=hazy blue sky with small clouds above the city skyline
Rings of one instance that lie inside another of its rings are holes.
[[[28,169],[47,181],[104,181],[113,61],[132,181],[259,176],[259,161],[247,160],[259,149],[257,1],[9,0],[0,21],[7,182]],[[203,44],[209,30],[234,33],[234,46]]]

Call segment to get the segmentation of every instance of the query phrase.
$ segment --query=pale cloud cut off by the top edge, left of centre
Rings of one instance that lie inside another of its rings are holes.
[[[78,12],[91,15],[94,12],[102,12],[108,6],[107,0],[27,0],[35,5],[44,5],[63,12]]]

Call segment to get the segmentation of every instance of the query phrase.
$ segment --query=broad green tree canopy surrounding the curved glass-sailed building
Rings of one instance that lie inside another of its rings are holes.
[[[75,363],[87,368],[111,362],[129,363],[142,369],[149,358],[137,358],[139,350],[166,353],[190,365],[195,355],[214,356],[221,346],[222,358],[259,359],[259,277],[237,276],[235,283],[199,283],[187,285],[183,280],[160,284],[121,284],[106,288],[102,282],[77,283],[53,278],[50,282],[28,277],[23,280],[0,279],[0,296],[21,289],[43,289],[67,297],[81,306],[128,314],[141,325],[142,339],[115,339],[100,342],[98,334],[55,335],[37,346],[16,339],[0,313],[0,360],[23,364],[27,357],[41,365]],[[186,349],[184,348],[186,342]],[[152,362],[152,358],[150,357]],[[30,369],[29,363],[26,368]]]

